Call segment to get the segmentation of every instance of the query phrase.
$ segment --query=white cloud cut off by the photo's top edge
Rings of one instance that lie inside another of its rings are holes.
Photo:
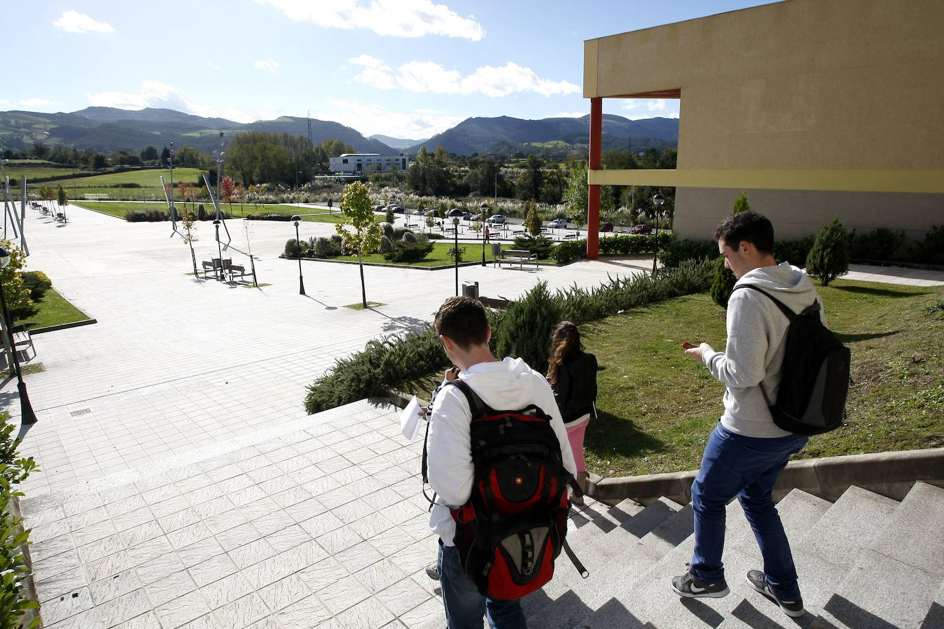
[[[256,0],[278,8],[295,22],[329,28],[368,28],[378,35],[446,35],[479,41],[485,31],[474,16],[462,17],[432,0]]]

